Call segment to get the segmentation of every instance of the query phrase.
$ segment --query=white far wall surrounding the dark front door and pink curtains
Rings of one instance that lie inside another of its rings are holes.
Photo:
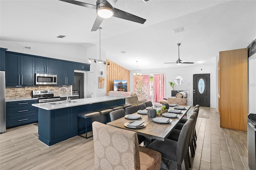
[[[215,65],[201,65],[201,66],[188,66],[188,67],[175,67],[169,69],[154,69],[154,70],[141,70],[142,74],[165,74],[165,97],[171,97],[171,89],[168,81],[174,81],[176,75],[181,75],[184,78],[182,85],[176,85],[175,90],[187,90],[190,97],[188,97],[188,105],[193,105],[193,75],[210,73],[210,107],[216,108],[216,66]],[[133,89],[133,73],[130,71],[130,91]],[[217,86],[218,87],[218,86]]]

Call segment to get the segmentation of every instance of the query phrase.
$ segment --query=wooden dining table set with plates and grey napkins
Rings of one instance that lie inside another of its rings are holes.
[[[117,128],[123,128],[126,130],[132,130],[137,132],[137,134],[143,135],[146,137],[146,140],[144,141],[144,144],[151,143],[152,138],[162,140],[164,141],[169,134],[172,132],[172,130],[176,127],[176,125],[180,122],[180,119],[182,119],[184,116],[187,115],[188,110],[190,109],[190,106],[184,106],[186,109],[181,110],[182,113],[179,113],[177,118],[170,118],[172,121],[170,123],[156,123],[152,121],[153,118],[148,117],[146,114],[140,114],[138,112],[133,114],[141,115],[142,118],[140,119],[126,119],[125,117],[122,117],[120,119],[117,119],[115,121],[107,123],[107,125],[117,127]],[[170,107],[172,109],[173,107]],[[162,115],[156,116],[156,117],[164,117]],[[128,128],[124,126],[124,123],[130,122],[130,121],[144,121],[146,124],[143,128]]]

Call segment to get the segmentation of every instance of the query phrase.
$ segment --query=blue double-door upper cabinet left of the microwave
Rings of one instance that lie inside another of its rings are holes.
[[[35,84],[35,57],[6,53],[6,86]]]

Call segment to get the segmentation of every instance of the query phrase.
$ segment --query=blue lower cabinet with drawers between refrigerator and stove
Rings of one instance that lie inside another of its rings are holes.
[[[38,100],[6,102],[6,128],[18,127],[38,121]]]

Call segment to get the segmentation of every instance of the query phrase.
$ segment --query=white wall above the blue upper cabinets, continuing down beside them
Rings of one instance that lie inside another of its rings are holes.
[[[100,59],[98,45],[92,47],[83,47],[82,45],[60,45],[50,43],[32,43],[32,42],[11,42],[0,41],[0,47],[7,48],[7,51],[50,57],[55,59],[63,59],[67,61],[76,61],[80,63],[89,63],[88,58]],[[26,49],[25,47],[30,47]],[[106,51],[101,49],[101,59],[106,61]],[[106,65],[100,63],[89,63],[90,72],[95,74],[94,97],[106,95],[106,83],[104,89],[99,89],[98,77],[105,77],[106,82]],[[100,72],[103,71],[103,75]]]

